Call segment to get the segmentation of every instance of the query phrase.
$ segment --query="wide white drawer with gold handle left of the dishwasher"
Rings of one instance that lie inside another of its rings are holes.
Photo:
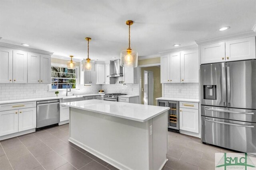
[[[30,108],[30,107],[36,107],[36,102],[1,104],[0,111],[24,109],[24,108]]]

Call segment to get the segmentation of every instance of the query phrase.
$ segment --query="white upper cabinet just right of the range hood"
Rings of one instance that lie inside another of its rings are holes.
[[[136,68],[129,68],[123,67],[123,83],[124,84],[137,84],[137,67]]]

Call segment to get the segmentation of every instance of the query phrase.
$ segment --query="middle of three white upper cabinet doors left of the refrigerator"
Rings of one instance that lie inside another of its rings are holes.
[[[180,83],[180,53],[170,54],[170,83]]]

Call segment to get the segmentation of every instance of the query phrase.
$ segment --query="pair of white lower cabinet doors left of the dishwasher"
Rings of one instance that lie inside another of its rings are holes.
[[[0,136],[36,128],[36,107],[0,111]]]

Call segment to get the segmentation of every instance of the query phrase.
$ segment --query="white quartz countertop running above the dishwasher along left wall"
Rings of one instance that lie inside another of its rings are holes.
[[[55,100],[55,99],[70,99],[70,98],[81,98],[87,96],[103,96],[104,94],[81,94],[76,96],[58,96],[58,97],[48,97],[48,98],[31,98],[31,99],[18,99],[18,100],[2,100],[0,104],[9,104],[9,103],[20,103],[20,102],[33,102],[33,101],[42,101],[42,100]]]

